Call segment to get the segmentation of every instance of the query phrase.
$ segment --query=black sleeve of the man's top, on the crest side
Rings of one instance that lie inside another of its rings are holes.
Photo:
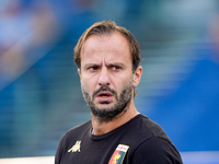
[[[152,137],[142,142],[135,151],[135,164],[183,164],[176,148],[170,141]]]

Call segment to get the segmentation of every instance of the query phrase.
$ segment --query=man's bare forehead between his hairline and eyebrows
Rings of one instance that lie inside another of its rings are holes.
[[[95,35],[88,37],[81,51],[81,62],[93,59],[129,59],[131,52],[129,43],[120,33]]]

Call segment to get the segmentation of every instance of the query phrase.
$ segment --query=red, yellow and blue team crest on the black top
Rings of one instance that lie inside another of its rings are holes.
[[[129,149],[128,145],[118,144],[108,164],[122,164],[128,149]]]

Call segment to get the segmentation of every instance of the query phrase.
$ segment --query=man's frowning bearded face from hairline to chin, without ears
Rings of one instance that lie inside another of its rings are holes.
[[[111,120],[128,108],[134,90],[132,62],[123,35],[89,36],[79,74],[83,96],[99,119]]]

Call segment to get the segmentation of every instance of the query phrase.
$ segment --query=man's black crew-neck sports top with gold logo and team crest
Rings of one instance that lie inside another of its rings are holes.
[[[60,140],[55,164],[182,164],[163,129],[142,114],[102,134],[91,120],[70,129]]]

